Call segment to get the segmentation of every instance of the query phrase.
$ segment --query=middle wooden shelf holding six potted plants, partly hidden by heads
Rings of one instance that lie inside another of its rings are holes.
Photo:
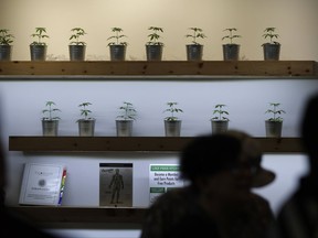
[[[24,152],[178,152],[192,137],[9,137],[10,151]],[[255,138],[265,153],[303,152],[299,138]]]

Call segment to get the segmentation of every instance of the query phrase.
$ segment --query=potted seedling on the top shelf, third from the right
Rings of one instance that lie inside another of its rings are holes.
[[[189,28],[191,34],[187,34],[186,37],[191,39],[191,44],[187,44],[187,60],[188,61],[202,61],[203,45],[198,42],[198,39],[206,37],[203,30],[200,28]]]

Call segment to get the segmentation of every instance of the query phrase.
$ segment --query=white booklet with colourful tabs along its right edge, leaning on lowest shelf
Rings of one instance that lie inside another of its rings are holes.
[[[61,205],[65,178],[63,164],[25,163],[19,204]]]

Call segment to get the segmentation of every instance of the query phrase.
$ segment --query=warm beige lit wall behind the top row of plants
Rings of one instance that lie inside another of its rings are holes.
[[[265,28],[275,26],[282,43],[282,60],[318,61],[317,0],[1,0],[0,29],[15,35],[13,60],[30,60],[30,36],[46,28],[50,60],[68,60],[71,29],[87,32],[87,60],[109,60],[106,47],[110,28],[128,36],[127,60],[145,60],[145,43],[151,25],[163,28],[163,60],[186,60],[191,26],[206,34],[203,60],[222,60],[222,36],[236,28],[242,39],[241,58],[263,60]],[[266,41],[267,42],[267,41]]]

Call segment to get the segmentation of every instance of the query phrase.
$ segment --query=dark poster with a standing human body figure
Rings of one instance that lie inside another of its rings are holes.
[[[99,206],[132,207],[132,163],[99,163]]]

